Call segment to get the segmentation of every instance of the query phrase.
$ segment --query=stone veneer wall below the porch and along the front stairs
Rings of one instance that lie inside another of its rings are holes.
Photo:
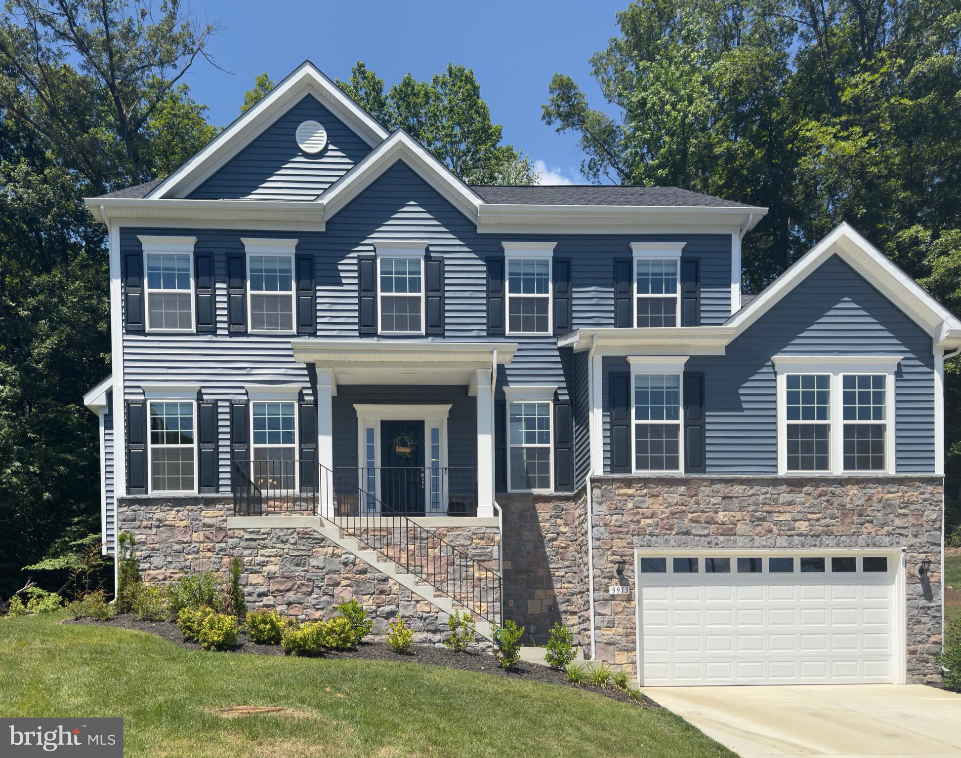
[[[446,636],[446,613],[322,534],[309,527],[228,529],[228,514],[233,514],[231,501],[210,497],[136,497],[118,503],[119,530],[135,535],[140,571],[148,583],[199,571],[226,577],[231,561],[239,557],[240,584],[252,610],[276,608],[302,620],[330,618],[335,604],[356,598],[374,617],[375,639],[398,614],[414,629],[418,643],[439,644]],[[438,532],[496,568],[496,527]],[[478,647],[489,646],[482,641]]]

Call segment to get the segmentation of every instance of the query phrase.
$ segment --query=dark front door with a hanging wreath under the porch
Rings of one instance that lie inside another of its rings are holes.
[[[381,422],[384,513],[424,514],[424,422]]]

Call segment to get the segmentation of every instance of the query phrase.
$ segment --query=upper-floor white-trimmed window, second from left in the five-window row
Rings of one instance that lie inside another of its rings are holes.
[[[294,331],[294,249],[297,240],[243,238],[251,332]]]

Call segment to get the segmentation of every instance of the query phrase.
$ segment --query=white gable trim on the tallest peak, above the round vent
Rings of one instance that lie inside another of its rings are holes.
[[[387,138],[387,130],[369,113],[305,60],[277,84],[257,105],[241,114],[203,150],[151,190],[150,199],[185,197],[221,166],[231,160],[273,124],[295,99],[313,95],[333,114],[357,132],[372,148]]]

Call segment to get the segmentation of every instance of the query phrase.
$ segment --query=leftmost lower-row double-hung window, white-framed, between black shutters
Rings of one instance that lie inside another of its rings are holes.
[[[150,491],[196,491],[192,400],[148,400]]]

